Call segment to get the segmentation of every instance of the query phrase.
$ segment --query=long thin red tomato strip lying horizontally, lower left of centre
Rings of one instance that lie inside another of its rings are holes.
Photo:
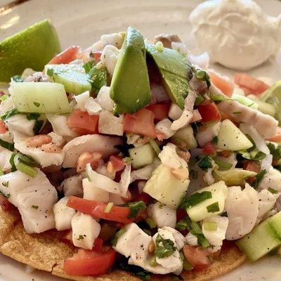
[[[71,196],[67,206],[94,218],[103,218],[107,221],[117,221],[119,223],[132,223],[133,220],[128,218],[130,214],[129,207],[113,206],[109,213],[105,213],[107,204],[103,202],[91,201],[79,197]]]

